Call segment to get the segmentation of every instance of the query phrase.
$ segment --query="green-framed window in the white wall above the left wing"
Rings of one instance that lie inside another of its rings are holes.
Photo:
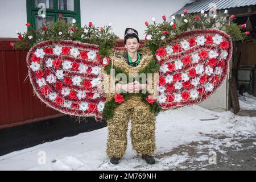
[[[39,14],[46,7],[46,18]],[[41,28],[42,23],[52,23],[62,14],[62,19],[72,23],[72,19],[81,26],[80,0],[27,0],[27,22],[34,28]]]

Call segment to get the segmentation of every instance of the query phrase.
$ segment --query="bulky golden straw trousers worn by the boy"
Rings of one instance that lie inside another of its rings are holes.
[[[106,154],[122,158],[127,147],[127,128],[131,119],[131,143],[138,154],[152,155],[155,151],[155,115],[149,104],[138,96],[119,105],[113,118],[108,120],[108,143]]]

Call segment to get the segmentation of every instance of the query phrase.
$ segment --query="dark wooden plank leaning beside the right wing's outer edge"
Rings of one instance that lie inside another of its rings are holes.
[[[236,80],[234,79],[234,77],[230,78],[229,80],[229,95],[230,95],[230,100],[233,108],[233,113],[237,114],[238,111],[240,110],[240,105],[239,105],[239,100],[237,95]]]

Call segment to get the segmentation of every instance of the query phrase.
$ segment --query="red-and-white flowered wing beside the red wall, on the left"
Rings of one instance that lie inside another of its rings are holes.
[[[102,119],[102,61],[98,46],[71,40],[36,44],[27,55],[36,96],[61,113]]]

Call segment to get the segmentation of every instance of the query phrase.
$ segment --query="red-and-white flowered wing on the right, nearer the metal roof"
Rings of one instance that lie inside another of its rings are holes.
[[[162,109],[197,104],[207,99],[227,75],[232,39],[219,30],[193,30],[176,36],[156,52],[158,102]]]

